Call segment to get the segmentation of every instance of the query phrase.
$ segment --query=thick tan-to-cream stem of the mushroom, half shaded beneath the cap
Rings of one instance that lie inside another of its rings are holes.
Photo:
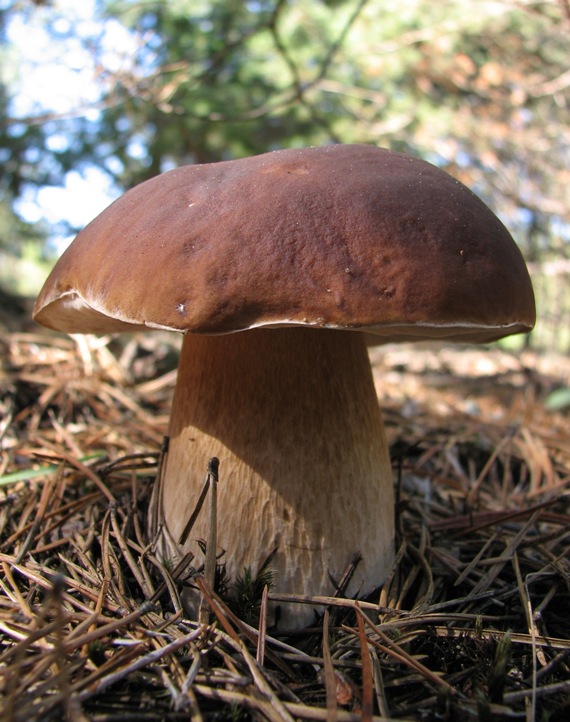
[[[232,577],[246,566],[255,573],[275,550],[270,566],[280,592],[330,593],[330,577],[339,580],[357,554],[350,591],[383,581],[393,559],[392,473],[361,333],[187,334],[159,510],[175,541],[213,456],[220,460],[218,548]],[[198,553],[207,525],[204,508],[177,553]],[[310,621],[304,610],[288,620]]]

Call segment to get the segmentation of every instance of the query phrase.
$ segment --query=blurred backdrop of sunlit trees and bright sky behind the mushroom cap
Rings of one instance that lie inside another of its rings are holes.
[[[128,187],[372,143],[456,176],[519,243],[570,350],[568,0],[0,0],[0,301]]]

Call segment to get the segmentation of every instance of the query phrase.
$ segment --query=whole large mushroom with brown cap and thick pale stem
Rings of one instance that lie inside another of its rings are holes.
[[[208,460],[230,574],[271,556],[276,589],[371,591],[394,556],[393,479],[367,343],[489,342],[534,325],[521,253],[471,191],[367,145],[168,171],[82,230],[35,305],[68,333],[184,335],[155,515],[170,555]],[[188,538],[185,538],[188,536]],[[301,626],[311,612],[292,605]]]

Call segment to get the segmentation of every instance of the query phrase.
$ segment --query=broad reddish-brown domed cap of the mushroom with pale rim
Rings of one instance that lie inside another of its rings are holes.
[[[333,145],[141,183],[78,234],[34,318],[68,333],[305,325],[492,341],[529,331],[535,307],[518,247],[464,185]]]

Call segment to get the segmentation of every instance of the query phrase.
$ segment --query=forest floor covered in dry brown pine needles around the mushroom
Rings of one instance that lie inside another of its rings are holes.
[[[568,359],[372,350],[396,562],[288,632],[204,585],[189,619],[188,563],[145,536],[177,339],[26,318],[0,317],[2,720],[570,718],[570,416],[545,406]]]

